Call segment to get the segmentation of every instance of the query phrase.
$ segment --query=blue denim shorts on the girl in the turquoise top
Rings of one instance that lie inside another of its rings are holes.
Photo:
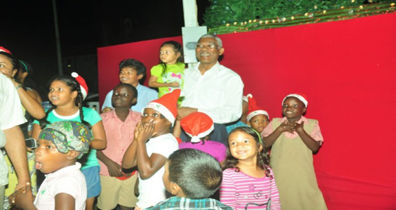
[[[97,197],[100,194],[100,166],[91,166],[81,169],[87,183],[87,198]]]

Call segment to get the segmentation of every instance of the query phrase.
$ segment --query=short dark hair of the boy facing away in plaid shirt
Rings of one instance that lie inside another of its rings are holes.
[[[221,185],[220,163],[199,150],[177,150],[169,156],[168,164],[169,181],[179,185],[187,198],[208,198]]]

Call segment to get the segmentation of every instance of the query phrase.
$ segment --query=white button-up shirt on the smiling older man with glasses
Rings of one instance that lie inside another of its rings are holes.
[[[200,74],[199,62],[184,71],[182,106],[198,108],[213,119],[214,123],[234,122],[242,115],[244,84],[241,77],[217,62]]]

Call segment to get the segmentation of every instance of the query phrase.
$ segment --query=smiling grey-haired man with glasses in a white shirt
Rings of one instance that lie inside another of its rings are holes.
[[[223,53],[220,38],[210,34],[199,38],[196,48],[199,62],[185,70],[185,99],[178,110],[178,120],[196,111],[206,113],[215,123],[211,140],[227,146],[224,124],[241,117],[244,84],[237,73],[217,61]],[[183,132],[181,138],[184,139]]]

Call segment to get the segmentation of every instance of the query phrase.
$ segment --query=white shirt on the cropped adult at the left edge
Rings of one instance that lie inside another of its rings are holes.
[[[0,73],[0,148],[5,145],[3,130],[23,124],[26,119],[23,115],[21,100],[12,82]],[[12,139],[8,140],[12,141]],[[0,186],[8,183],[8,168],[0,152]]]

